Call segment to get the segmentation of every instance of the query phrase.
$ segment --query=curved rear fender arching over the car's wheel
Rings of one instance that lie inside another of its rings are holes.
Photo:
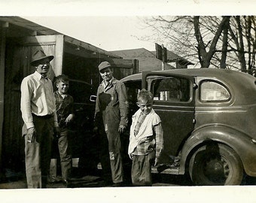
[[[245,173],[256,176],[256,145],[252,139],[230,126],[211,125],[195,129],[181,149],[179,174],[184,174],[187,158],[201,144],[215,141],[231,147],[240,157]]]

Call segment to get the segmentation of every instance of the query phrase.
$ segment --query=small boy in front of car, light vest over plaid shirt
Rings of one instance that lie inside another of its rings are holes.
[[[133,159],[134,186],[151,186],[151,165],[157,166],[163,150],[163,129],[160,117],[153,109],[153,95],[142,89],[138,96],[139,110],[133,115],[130,127],[128,154]]]

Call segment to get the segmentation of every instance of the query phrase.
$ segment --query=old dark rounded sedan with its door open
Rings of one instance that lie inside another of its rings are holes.
[[[197,68],[146,71],[122,81],[130,114],[137,110],[139,89],[154,94],[164,132],[158,171],[189,174],[196,185],[235,185],[243,174],[256,177],[255,77]]]

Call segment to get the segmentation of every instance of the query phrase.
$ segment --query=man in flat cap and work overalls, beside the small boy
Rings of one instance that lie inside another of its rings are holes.
[[[109,62],[105,61],[99,64],[99,74],[103,80],[97,91],[95,111],[95,126],[97,127],[95,129],[98,129],[99,134],[103,135],[100,135],[102,141],[104,135],[108,138],[108,151],[105,159],[101,159],[103,175],[107,171],[110,161],[113,186],[122,186],[123,165],[120,133],[126,129],[128,123],[126,88],[120,80],[113,77]],[[102,150],[104,150],[104,146],[105,144],[103,144]]]

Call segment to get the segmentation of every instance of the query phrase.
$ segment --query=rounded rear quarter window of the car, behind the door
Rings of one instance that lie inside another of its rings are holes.
[[[202,102],[225,102],[230,99],[230,92],[221,83],[205,80],[200,84],[200,100]]]

